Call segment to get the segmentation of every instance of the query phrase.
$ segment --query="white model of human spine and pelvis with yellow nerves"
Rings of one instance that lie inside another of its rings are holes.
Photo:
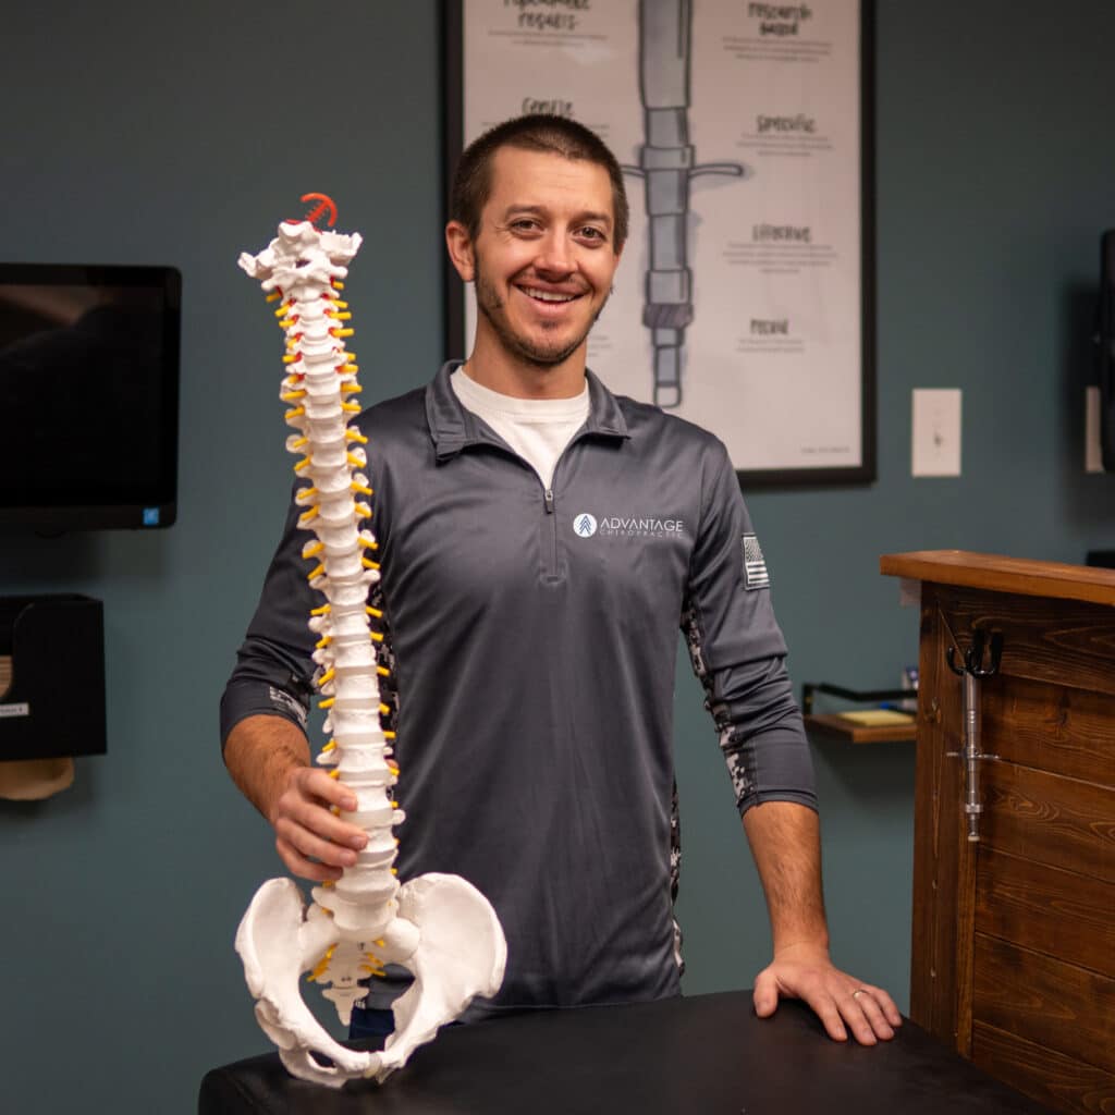
[[[400,885],[394,866],[404,820],[395,801],[399,768],[391,734],[380,724],[374,629],[381,613],[368,607],[379,580],[370,554],[372,498],[367,438],[350,421],[360,407],[357,366],[346,351],[352,329],[339,300],[348,264],[360,248],[359,234],[342,235],[317,223],[336,220],[322,194],[303,221],[284,221],[279,235],[240,265],[260,280],[287,337],[281,398],[287,424],[295,430],[287,448],[299,455],[297,475],[306,481],[295,495],[304,507],[299,526],[311,533],[302,550],[308,579],[323,598],[308,617],[318,636],[313,652],[326,731],[332,738],[317,762],[330,767],[352,791],[357,807],[341,817],[368,834],[368,844],[341,878],[313,889],[309,910],[290,879],[265,882],[241,920],[236,951],[255,1002],[260,1026],[279,1047],[294,1076],[331,1087],[357,1077],[382,1080],[406,1064],[477,995],[493,996],[503,982],[507,947],[487,899],[457,875],[424,874]],[[302,999],[301,987],[327,988],[342,1022],[367,989],[360,980],[401,964],[414,982],[396,1000],[395,1032],[381,1053],[347,1049],[334,1041]],[[303,976],[306,977],[303,979]]]

